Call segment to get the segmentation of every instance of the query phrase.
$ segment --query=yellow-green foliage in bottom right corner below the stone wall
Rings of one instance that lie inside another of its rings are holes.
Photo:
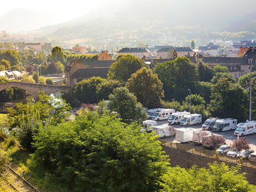
[[[240,167],[231,167],[225,163],[209,164],[209,169],[197,168],[191,169],[169,167],[160,183],[161,192],[235,192],[252,191],[253,185],[250,185],[245,178],[245,173],[239,173]]]

